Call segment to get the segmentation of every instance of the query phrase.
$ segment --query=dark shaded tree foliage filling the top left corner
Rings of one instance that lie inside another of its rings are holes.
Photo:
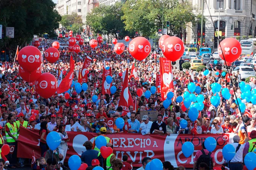
[[[0,39],[0,49],[5,45],[16,49],[24,46],[34,35],[53,33],[59,27],[61,16],[54,10],[52,0],[1,0],[0,24],[14,27],[14,38]],[[5,32],[5,31],[4,31]]]

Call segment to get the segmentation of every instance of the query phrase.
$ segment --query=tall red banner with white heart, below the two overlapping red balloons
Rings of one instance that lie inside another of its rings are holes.
[[[171,61],[167,58],[160,58],[160,79],[161,79],[161,98],[166,99],[167,93],[173,89],[173,73],[171,69]]]

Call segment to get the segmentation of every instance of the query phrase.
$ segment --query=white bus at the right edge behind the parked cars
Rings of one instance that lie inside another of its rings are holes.
[[[244,54],[244,55],[256,54],[256,38],[241,40],[240,44],[242,47],[242,54]]]

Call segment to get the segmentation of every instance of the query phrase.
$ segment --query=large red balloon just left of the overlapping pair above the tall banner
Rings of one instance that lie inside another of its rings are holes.
[[[129,52],[136,60],[144,60],[150,51],[150,42],[144,37],[136,37],[129,43]]]

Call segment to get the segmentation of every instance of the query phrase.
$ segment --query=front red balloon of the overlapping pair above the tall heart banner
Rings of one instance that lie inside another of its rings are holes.
[[[185,51],[183,41],[176,36],[166,38],[161,49],[163,55],[173,62],[181,58]]]

